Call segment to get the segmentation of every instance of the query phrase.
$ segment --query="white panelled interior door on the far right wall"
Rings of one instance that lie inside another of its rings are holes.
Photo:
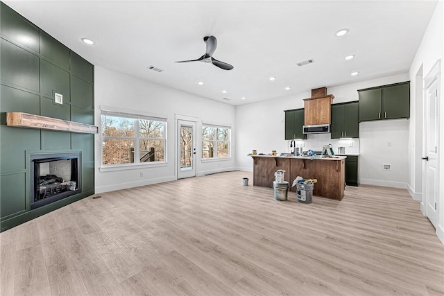
[[[438,194],[439,194],[439,75],[426,78],[425,89],[425,215],[432,224],[438,225]]]

